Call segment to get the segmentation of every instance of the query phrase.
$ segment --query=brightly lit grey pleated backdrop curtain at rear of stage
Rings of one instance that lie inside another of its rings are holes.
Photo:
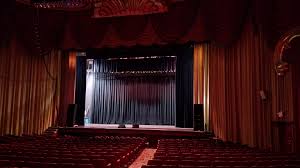
[[[95,59],[93,65],[86,94],[91,123],[175,125],[176,57]]]

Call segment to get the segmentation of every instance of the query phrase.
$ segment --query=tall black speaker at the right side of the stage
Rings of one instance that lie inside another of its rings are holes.
[[[203,104],[194,104],[194,131],[204,131]]]

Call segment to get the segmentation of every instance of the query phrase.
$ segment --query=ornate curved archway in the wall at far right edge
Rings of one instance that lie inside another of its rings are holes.
[[[300,152],[300,28],[282,36],[273,60],[274,149]]]

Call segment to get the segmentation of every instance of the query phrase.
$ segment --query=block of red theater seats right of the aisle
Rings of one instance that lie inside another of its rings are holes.
[[[209,141],[162,139],[152,160],[143,168],[174,167],[300,167],[295,154],[258,151],[240,145],[213,145]]]

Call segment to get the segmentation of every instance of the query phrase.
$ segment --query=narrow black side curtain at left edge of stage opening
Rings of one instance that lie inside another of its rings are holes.
[[[76,59],[76,89],[75,89],[75,103],[77,104],[77,111],[75,116],[76,124],[84,125],[84,111],[85,111],[85,92],[86,92],[86,58],[77,57]]]

